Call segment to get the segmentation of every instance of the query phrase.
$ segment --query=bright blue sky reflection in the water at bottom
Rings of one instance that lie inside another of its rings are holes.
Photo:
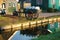
[[[37,38],[37,36],[23,35],[23,34],[20,34],[20,31],[17,31],[11,40],[31,40],[32,38]]]

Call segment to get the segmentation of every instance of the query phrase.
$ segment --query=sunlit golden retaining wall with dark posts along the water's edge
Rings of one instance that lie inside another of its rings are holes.
[[[43,18],[42,20],[37,20],[37,21],[29,21],[25,23],[20,23],[20,24],[12,24],[12,25],[6,25],[5,27],[2,27],[4,31],[11,31],[11,30],[25,30],[25,29],[30,29],[34,27],[38,27],[41,25],[46,25],[54,22],[60,22],[60,17],[57,18],[49,18],[45,19]]]

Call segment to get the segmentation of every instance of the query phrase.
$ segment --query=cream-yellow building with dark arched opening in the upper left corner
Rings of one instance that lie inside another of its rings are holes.
[[[17,10],[16,0],[0,0],[0,9],[5,9],[6,13]]]

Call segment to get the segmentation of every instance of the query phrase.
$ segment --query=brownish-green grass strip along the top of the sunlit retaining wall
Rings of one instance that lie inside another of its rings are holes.
[[[19,24],[19,23],[25,23],[29,21],[37,21],[37,20],[57,18],[57,17],[60,17],[60,16],[40,17],[36,20],[27,20],[25,17],[17,17],[17,16],[11,16],[11,15],[0,16],[0,27],[5,25]]]

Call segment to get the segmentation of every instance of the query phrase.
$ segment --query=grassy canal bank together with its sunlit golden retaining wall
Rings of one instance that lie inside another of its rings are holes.
[[[17,29],[24,30],[26,28],[33,28],[35,26],[40,26],[41,23],[44,23],[44,22],[52,23],[52,21],[60,22],[60,15],[49,16],[49,17],[40,17],[35,20],[27,20],[25,17],[18,18],[17,16],[8,16],[7,15],[7,16],[0,17],[0,29],[1,28],[4,30],[6,29],[7,31],[17,30]],[[42,24],[42,25],[45,25],[45,24]]]

